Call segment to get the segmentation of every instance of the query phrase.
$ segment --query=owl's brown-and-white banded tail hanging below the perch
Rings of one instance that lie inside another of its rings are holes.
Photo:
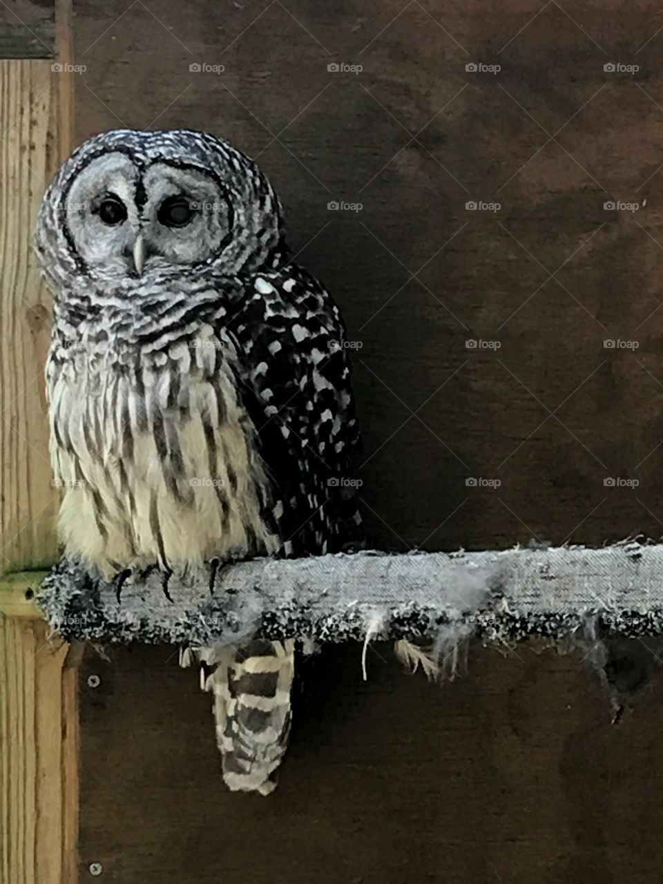
[[[214,694],[217,745],[232,791],[269,795],[290,735],[294,642],[253,641],[196,650]]]

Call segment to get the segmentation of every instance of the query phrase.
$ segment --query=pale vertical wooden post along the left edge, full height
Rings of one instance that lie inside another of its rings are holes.
[[[0,16],[0,880],[74,884],[78,660],[47,638],[27,598],[38,575],[25,573],[57,559],[50,297],[31,245],[43,191],[72,148],[74,74],[54,68],[72,62],[71,0],[13,9]]]

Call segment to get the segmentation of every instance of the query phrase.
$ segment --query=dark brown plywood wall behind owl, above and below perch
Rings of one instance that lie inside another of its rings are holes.
[[[88,0],[74,13],[77,141],[206,129],[277,187],[298,260],[362,345],[371,545],[659,537],[658,4]],[[479,62],[501,70],[466,71]],[[469,673],[440,689],[387,647],[370,650],[367,684],[359,649],[326,649],[267,799],[225,792],[210,699],[174,649],[88,654],[80,880],[100,862],[122,884],[658,884],[663,685],[621,697],[611,724],[585,650],[473,647]]]

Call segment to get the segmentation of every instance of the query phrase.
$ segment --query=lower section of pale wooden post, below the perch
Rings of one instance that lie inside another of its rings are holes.
[[[47,640],[42,621],[0,615],[0,870],[11,884],[75,880],[78,684],[63,669],[68,650]]]

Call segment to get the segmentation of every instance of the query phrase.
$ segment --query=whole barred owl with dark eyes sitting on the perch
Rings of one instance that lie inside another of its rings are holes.
[[[67,558],[116,591],[361,537],[343,481],[360,435],[339,310],[293,258],[270,182],[188,130],[86,141],[45,194],[54,295],[50,456]],[[267,794],[286,751],[294,641],[190,655],[230,789]]]

